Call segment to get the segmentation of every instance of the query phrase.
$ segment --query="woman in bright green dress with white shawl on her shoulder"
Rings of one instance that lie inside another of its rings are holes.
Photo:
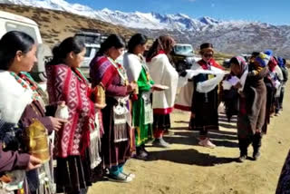
[[[145,35],[134,34],[129,41],[128,53],[125,53],[123,60],[129,82],[137,82],[138,84],[138,93],[134,94],[132,100],[132,121],[136,130],[136,157],[141,160],[146,160],[148,157],[145,143],[150,141],[153,135],[153,111],[150,101],[150,89],[154,82],[150,77],[149,68],[143,58],[147,40]]]

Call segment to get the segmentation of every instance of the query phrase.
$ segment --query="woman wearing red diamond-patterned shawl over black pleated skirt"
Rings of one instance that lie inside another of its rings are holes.
[[[90,133],[95,129],[95,107],[89,82],[78,69],[84,53],[82,41],[69,37],[53,48],[53,60],[45,66],[49,101],[65,102],[69,112],[68,122],[55,134],[57,192],[86,193],[92,185]]]

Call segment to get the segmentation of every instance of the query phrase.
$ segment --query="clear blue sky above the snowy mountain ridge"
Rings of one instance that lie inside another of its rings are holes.
[[[185,14],[193,18],[210,16],[221,20],[259,21],[290,25],[290,0],[67,0],[94,9],[123,12]]]

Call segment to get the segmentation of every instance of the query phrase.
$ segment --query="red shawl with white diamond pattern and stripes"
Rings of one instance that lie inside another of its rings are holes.
[[[69,121],[56,134],[55,151],[58,157],[83,155],[90,145],[94,129],[94,104],[91,89],[77,69],[65,64],[46,65],[49,101],[64,101],[69,108]]]

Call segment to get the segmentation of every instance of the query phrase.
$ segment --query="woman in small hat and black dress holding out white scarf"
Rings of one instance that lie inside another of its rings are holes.
[[[201,60],[198,61],[197,69],[210,71],[213,69],[222,69],[219,64],[213,59],[213,45],[200,45]],[[201,67],[201,68],[200,68]],[[191,127],[193,130],[199,131],[198,144],[208,148],[215,148],[216,145],[209,141],[208,130],[218,130],[218,82],[209,92],[198,92],[198,84],[208,82],[215,78],[214,74],[199,73],[193,77],[194,92],[191,105]]]

